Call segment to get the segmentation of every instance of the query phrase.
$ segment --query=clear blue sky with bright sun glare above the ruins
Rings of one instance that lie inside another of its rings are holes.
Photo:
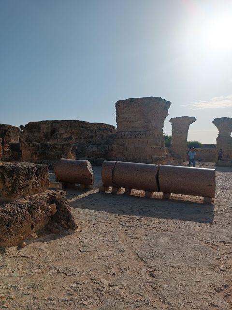
[[[232,0],[0,0],[0,123],[116,125],[117,100],[162,97],[216,143],[232,117]],[[154,120],[155,122],[155,120]]]

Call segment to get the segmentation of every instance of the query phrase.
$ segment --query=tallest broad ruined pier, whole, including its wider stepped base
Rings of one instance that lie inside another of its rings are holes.
[[[141,162],[164,155],[163,123],[170,105],[158,97],[117,101],[117,130],[109,158]]]

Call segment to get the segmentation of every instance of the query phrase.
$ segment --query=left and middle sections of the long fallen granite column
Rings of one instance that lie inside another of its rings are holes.
[[[104,161],[102,165],[102,185],[158,191],[158,166],[121,161]]]

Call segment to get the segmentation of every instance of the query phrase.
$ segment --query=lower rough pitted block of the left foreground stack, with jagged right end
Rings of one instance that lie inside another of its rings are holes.
[[[0,247],[17,245],[48,223],[74,231],[77,225],[65,194],[48,190],[0,205]]]

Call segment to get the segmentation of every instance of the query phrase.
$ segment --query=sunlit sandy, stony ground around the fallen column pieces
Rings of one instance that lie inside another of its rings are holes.
[[[232,168],[216,174],[211,205],[68,190],[77,232],[2,250],[0,309],[231,310]]]

